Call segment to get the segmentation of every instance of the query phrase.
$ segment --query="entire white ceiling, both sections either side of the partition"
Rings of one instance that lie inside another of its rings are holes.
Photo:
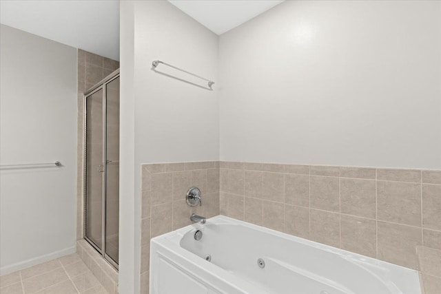
[[[223,34],[283,0],[169,0]],[[0,0],[0,23],[119,60],[119,0]]]

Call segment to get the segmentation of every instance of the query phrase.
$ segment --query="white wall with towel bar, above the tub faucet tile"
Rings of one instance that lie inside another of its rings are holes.
[[[134,50],[137,162],[217,160],[216,85],[209,91],[151,70],[159,59],[217,82],[217,35],[168,1],[135,1]],[[158,71],[196,81],[164,65]]]

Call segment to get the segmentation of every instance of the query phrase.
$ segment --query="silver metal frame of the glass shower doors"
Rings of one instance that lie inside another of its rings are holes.
[[[116,263],[109,255],[105,253],[105,243],[106,243],[106,233],[105,233],[105,220],[106,220],[106,184],[107,184],[107,84],[111,83],[112,81],[116,80],[116,78],[119,78],[119,69],[112,72],[112,74],[109,74],[103,80],[99,81],[99,83],[96,83],[93,87],[90,88],[87,92],[85,92],[83,96],[83,223],[84,223],[84,229],[83,229],[83,238],[88,241],[92,247],[96,251],[98,251],[102,256],[103,259],[107,262],[109,262],[116,270],[119,269],[119,264]],[[99,90],[103,91],[103,178],[101,179],[101,199],[102,199],[102,207],[101,207],[101,243],[102,248],[99,249],[99,247],[94,244],[92,240],[90,240],[87,235],[87,197],[88,197],[88,178],[87,178],[87,167],[88,167],[88,156],[87,156],[87,120],[88,120],[88,107],[87,107],[87,98],[88,96],[91,96],[95,94],[96,92],[99,92]]]

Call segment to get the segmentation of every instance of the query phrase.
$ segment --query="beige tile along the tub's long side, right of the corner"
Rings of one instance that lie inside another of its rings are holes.
[[[418,269],[441,249],[441,171],[220,162],[220,214]]]

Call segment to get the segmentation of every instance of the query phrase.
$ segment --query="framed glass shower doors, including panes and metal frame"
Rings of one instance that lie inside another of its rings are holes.
[[[85,240],[118,269],[119,70],[84,97]]]

